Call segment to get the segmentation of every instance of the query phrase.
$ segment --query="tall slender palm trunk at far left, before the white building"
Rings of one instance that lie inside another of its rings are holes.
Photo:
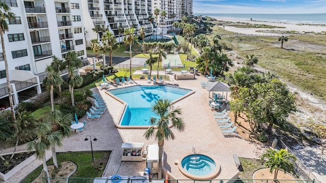
[[[0,27],[0,37],[1,37],[1,46],[2,46],[2,51],[3,51],[3,57],[4,57],[4,60],[5,60],[5,70],[6,70],[6,81],[7,81],[7,89],[8,89],[8,98],[9,98],[10,110],[11,110],[11,121],[12,121],[12,123],[14,125],[14,129],[18,133],[18,127],[17,127],[17,123],[16,123],[16,116],[15,116],[14,101],[12,99],[12,94],[11,94],[11,86],[10,86],[10,78],[9,78],[9,68],[8,68],[8,61],[7,61],[6,49],[5,49],[4,32],[3,32],[3,29],[1,27]],[[16,147],[17,147],[17,145],[16,145]],[[14,152],[11,155],[11,158],[14,156],[14,153],[16,151],[16,147],[15,147]]]

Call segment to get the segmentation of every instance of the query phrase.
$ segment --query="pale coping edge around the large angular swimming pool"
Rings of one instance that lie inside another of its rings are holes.
[[[148,85],[133,85],[133,86],[148,86]],[[128,87],[133,87],[133,86],[128,86]],[[164,85],[166,86],[166,85]],[[175,86],[169,86],[169,87],[175,87]],[[125,87],[127,88],[127,87]],[[175,87],[175,88],[180,88],[180,87]],[[187,89],[187,88],[182,88],[182,89]],[[191,90],[191,89],[187,89],[187,90]],[[128,107],[128,103],[121,100],[120,98],[116,97],[115,95],[113,95],[112,93],[108,92],[107,90],[105,91],[105,93],[109,96],[111,96],[112,98],[116,99],[117,101],[119,101],[120,103],[123,104],[123,110],[122,112],[120,112],[119,114],[119,120],[113,120],[114,121],[114,124],[116,125],[117,128],[120,128],[120,129],[148,129],[150,127],[150,125],[148,126],[126,126],[126,125],[120,125],[120,121],[122,120],[122,117],[124,116],[124,113],[126,112],[126,109]],[[187,93],[186,95],[183,95],[182,97],[172,101],[172,104],[175,104],[176,102],[194,94],[195,91],[194,90],[191,90],[191,92]],[[169,128],[172,127],[172,124],[169,125]],[[156,129],[157,127],[154,126],[154,128]]]

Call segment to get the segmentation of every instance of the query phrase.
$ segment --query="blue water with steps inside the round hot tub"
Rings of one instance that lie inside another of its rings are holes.
[[[216,169],[214,160],[203,154],[192,154],[185,156],[181,165],[193,175],[207,175]]]

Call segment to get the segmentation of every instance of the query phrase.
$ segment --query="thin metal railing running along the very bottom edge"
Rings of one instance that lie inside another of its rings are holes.
[[[111,179],[111,178],[64,178],[64,177],[50,177],[51,182],[83,182],[83,183],[99,183],[99,182],[113,182],[113,183],[161,183],[165,182],[165,179],[152,179],[149,181],[145,176],[131,176],[132,178],[120,178],[120,179]],[[42,177],[42,181],[46,182],[47,177]],[[209,179],[209,180],[192,180],[192,179],[169,179],[170,183],[275,183],[274,179]],[[314,183],[314,180],[277,180],[278,183]]]

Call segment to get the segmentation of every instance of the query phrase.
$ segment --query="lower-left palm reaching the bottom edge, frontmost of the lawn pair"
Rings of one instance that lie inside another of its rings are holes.
[[[34,129],[35,139],[28,143],[27,149],[29,151],[35,150],[36,158],[42,160],[44,176],[47,177],[47,182],[50,183],[50,175],[46,165],[45,150],[49,149],[51,145],[58,144],[62,139],[62,134],[59,132],[51,133],[51,124],[41,121]]]

